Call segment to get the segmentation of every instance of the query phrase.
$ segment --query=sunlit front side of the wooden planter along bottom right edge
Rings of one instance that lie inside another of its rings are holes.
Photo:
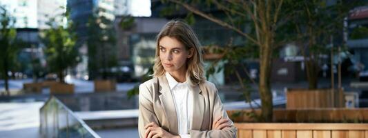
[[[368,124],[235,123],[242,138],[367,138]]]

